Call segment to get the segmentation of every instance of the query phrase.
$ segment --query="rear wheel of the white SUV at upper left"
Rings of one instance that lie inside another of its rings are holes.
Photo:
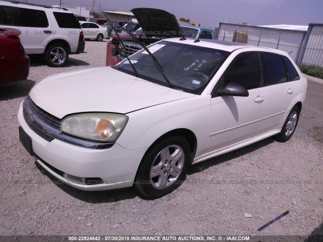
[[[52,44],[45,51],[45,60],[50,67],[63,67],[69,59],[64,44]]]

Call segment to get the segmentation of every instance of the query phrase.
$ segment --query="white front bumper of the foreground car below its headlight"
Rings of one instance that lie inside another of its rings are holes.
[[[23,102],[22,102],[23,103]],[[23,107],[18,113],[19,126],[32,140],[36,161],[56,178],[66,184],[86,191],[99,191],[131,187],[140,161],[147,149],[127,150],[119,144],[110,149],[88,149],[54,139],[46,141],[26,123]],[[98,177],[103,183],[84,185],[63,176]]]

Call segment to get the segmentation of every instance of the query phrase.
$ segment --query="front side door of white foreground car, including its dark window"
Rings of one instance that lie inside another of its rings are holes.
[[[235,82],[245,87],[248,97],[220,96],[218,89]],[[252,138],[264,106],[260,62],[256,52],[238,55],[219,80],[210,103],[209,150],[218,150]]]

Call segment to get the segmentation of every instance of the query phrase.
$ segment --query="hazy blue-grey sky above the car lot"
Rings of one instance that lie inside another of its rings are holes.
[[[43,5],[60,5],[60,0],[19,0]],[[93,0],[61,0],[63,7],[84,6],[92,9]],[[322,0],[95,0],[94,12],[103,10],[129,12],[133,8],[157,8],[187,18],[201,26],[219,22],[250,25],[308,25],[323,23]],[[231,17],[230,17],[231,15]]]

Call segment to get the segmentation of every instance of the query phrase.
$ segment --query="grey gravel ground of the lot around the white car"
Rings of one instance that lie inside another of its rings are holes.
[[[194,165],[186,183],[160,199],[132,188],[79,191],[38,168],[19,142],[20,102],[48,75],[105,66],[105,49],[87,41],[65,68],[32,60],[28,80],[0,87],[0,235],[323,235],[322,80],[308,82],[289,142],[268,138]]]

